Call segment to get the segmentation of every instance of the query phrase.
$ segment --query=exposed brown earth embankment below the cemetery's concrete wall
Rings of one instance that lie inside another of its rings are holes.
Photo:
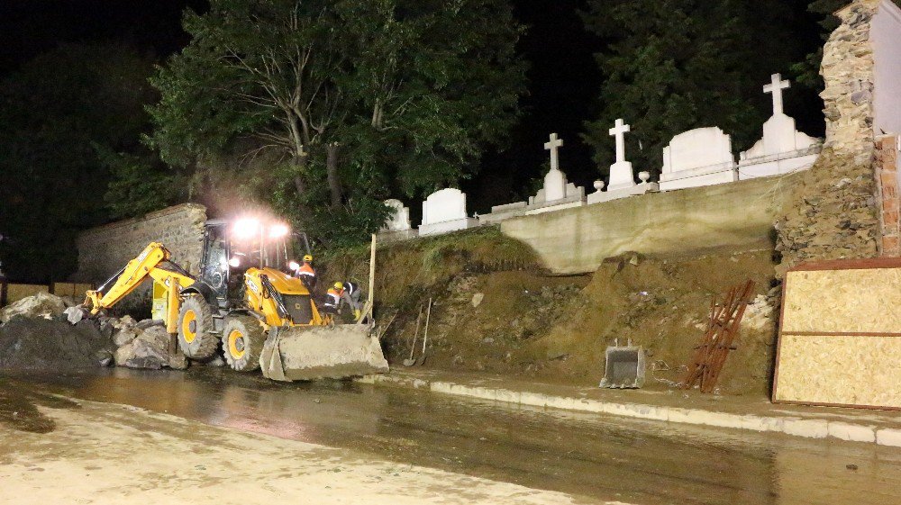
[[[365,281],[363,256],[330,258],[326,280]],[[418,314],[422,309],[424,327],[432,297],[427,366],[590,385],[604,374],[605,348],[615,338],[623,344],[632,339],[649,351],[645,387],[666,389],[681,379],[714,294],[752,279],[757,299],[719,390],[760,393],[769,388],[776,339],[777,302],[767,296],[771,256],[767,250],[625,255],[592,275],[560,277],[548,275],[531,249],[499,231],[470,231],[380,248],[377,314],[382,322],[397,314],[383,340],[396,366],[409,356]]]

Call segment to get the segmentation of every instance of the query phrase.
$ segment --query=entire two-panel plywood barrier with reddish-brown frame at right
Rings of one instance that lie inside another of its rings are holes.
[[[773,401],[901,410],[901,265],[801,266],[785,279]]]

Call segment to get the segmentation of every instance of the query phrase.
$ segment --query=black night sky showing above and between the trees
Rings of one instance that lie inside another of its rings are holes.
[[[560,164],[570,181],[590,192],[596,178],[590,150],[579,138],[600,87],[592,55],[601,42],[584,31],[578,17],[586,0],[513,1],[517,18],[529,27],[520,50],[532,65],[530,95],[523,98],[523,120],[512,131],[510,145],[501,153],[487,153],[479,176],[463,183],[470,212],[487,212],[492,204],[532,193],[528,185],[543,175],[548,159],[543,143],[551,132],[565,141]],[[806,0],[797,3],[805,5]],[[200,0],[3,0],[0,75],[60,42],[123,41],[168,55],[187,43],[180,28],[182,10],[203,10],[204,5]],[[805,126],[803,117],[799,126]],[[421,205],[408,203],[416,221]]]

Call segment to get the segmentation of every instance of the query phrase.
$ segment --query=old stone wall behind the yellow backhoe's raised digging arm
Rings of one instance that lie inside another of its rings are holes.
[[[206,208],[195,203],[168,207],[128,221],[117,221],[78,235],[77,282],[99,285],[138,256],[150,242],[161,242],[172,252],[172,259],[196,274],[203,254],[203,230]],[[150,283],[141,286],[137,296],[149,293]],[[149,307],[149,306],[148,306]]]

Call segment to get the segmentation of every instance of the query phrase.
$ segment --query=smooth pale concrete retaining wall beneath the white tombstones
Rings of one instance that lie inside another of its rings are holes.
[[[555,274],[594,272],[627,251],[688,255],[772,248],[773,221],[797,175],[642,194],[501,222]]]

